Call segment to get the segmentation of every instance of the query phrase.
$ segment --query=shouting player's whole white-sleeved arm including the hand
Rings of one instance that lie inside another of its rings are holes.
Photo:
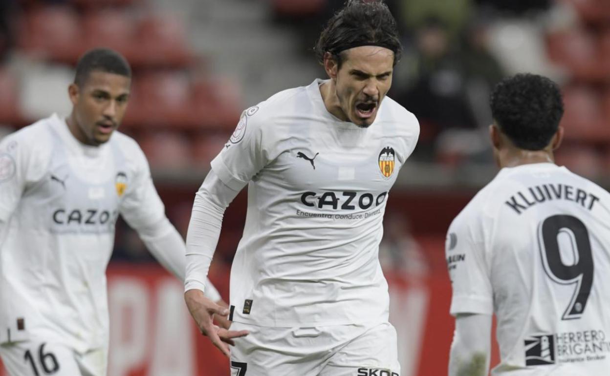
[[[258,107],[253,107],[242,113],[237,129],[212,161],[212,169],[195,196],[188,224],[184,299],[201,333],[226,356],[230,352],[225,343],[232,344],[232,339],[221,336],[223,332],[212,324],[212,316],[219,310],[228,314],[228,310],[203,296],[203,282],[218,243],[224,210],[270,160],[262,135],[264,121],[257,111]]]

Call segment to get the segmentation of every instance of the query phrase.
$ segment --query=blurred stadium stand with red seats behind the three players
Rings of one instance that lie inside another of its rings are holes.
[[[2,0],[0,137],[52,112],[68,115],[66,88],[82,52],[121,51],[134,70],[121,131],[142,146],[168,216],[185,235],[195,191],[243,108],[325,76],[312,46],[342,3]],[[445,231],[497,171],[487,141],[493,85],[522,71],[560,83],[566,140],[558,163],[610,186],[610,2],[387,3],[405,49],[390,96],[418,116],[422,135],[390,195],[380,257],[403,338],[403,375],[436,375],[446,369],[453,330]],[[210,269],[225,299],[245,204],[242,192],[226,212]],[[181,287],[151,261],[120,222],[109,267],[110,375],[228,374],[220,352],[196,338],[194,328],[186,335],[195,339],[184,341],[180,323],[190,321]]]

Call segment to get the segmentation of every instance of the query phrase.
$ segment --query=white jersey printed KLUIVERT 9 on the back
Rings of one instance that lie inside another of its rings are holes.
[[[504,168],[447,236],[451,314],[497,315],[494,375],[610,370],[610,194],[564,167]]]

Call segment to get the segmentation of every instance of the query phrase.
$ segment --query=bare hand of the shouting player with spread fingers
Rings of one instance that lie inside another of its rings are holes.
[[[199,332],[210,338],[214,346],[218,347],[229,358],[231,350],[228,345],[233,346],[235,344],[233,338],[246,336],[248,331],[228,330],[214,325],[214,314],[226,317],[229,314],[229,310],[207,299],[203,291],[198,289],[188,290],[184,293],[184,300],[187,303],[188,311],[193,316],[193,319],[195,319]]]

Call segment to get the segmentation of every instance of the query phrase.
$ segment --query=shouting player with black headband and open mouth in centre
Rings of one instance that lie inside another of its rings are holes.
[[[389,190],[417,143],[415,116],[386,97],[400,57],[380,1],[350,1],[316,46],[328,80],[242,114],[195,199],[185,300],[234,375],[400,374],[378,246]],[[201,297],[224,209],[248,185],[231,271],[234,350]]]

